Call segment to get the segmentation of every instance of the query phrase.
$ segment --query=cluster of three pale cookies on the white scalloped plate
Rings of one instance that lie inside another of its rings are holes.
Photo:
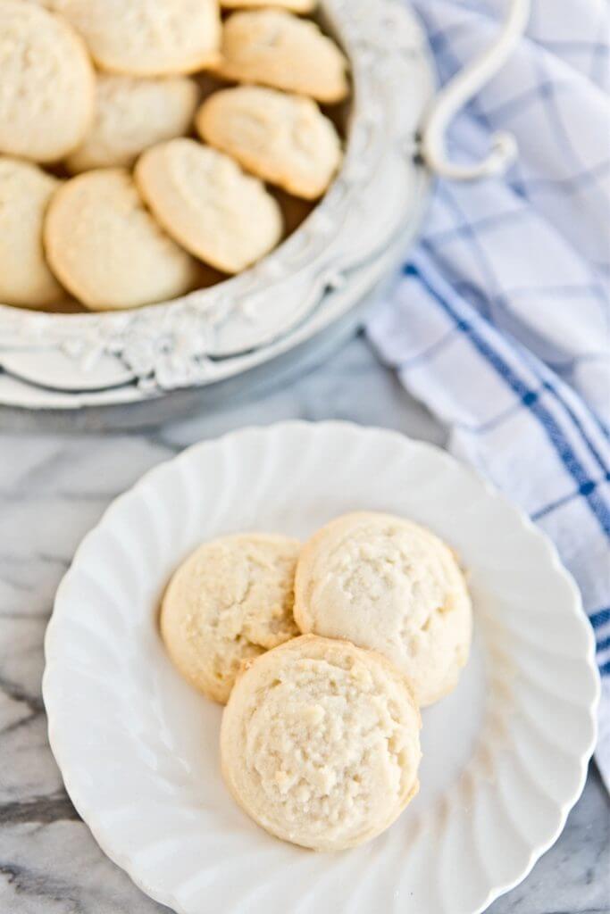
[[[225,781],[268,832],[359,845],[418,789],[419,708],[457,684],[472,607],[454,553],[392,515],[309,539],[241,534],[177,569],[160,630],[179,672],[226,704]]]

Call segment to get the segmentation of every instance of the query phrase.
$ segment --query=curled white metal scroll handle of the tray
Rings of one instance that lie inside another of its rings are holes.
[[[446,149],[449,123],[467,101],[481,90],[504,66],[522,37],[530,18],[530,0],[509,0],[508,16],[493,45],[448,82],[436,96],[433,109],[423,124],[420,153],[429,168],[441,177],[458,181],[500,175],[517,155],[512,133],[494,133],[487,158],[473,165],[452,162]]]

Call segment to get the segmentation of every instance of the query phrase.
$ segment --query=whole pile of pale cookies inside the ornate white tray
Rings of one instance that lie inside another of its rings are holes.
[[[0,302],[134,308],[273,250],[341,163],[315,6],[0,0]]]

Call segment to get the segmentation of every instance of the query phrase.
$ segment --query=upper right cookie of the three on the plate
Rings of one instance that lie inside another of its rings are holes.
[[[401,517],[337,517],[303,548],[294,583],[302,632],[348,638],[385,654],[409,677],[420,706],[456,685],[472,608],[449,547]]]

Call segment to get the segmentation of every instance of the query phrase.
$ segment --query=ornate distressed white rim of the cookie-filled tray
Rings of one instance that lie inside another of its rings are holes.
[[[0,378],[0,402],[116,403],[234,377],[337,321],[388,270],[430,181],[415,161],[434,87],[426,39],[396,0],[322,10],[353,77],[345,161],[326,197],[250,270],[172,302],[97,314],[0,305],[0,366],[26,382]]]

